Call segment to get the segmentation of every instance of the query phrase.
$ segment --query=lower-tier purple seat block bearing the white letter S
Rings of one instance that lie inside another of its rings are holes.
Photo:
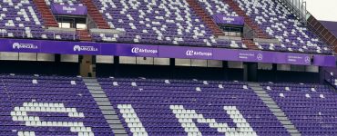
[[[81,78],[0,76],[0,135],[113,135]]]

